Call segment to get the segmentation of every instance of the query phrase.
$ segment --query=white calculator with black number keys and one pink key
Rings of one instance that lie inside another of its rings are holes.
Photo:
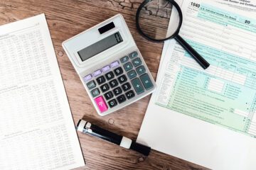
[[[99,115],[151,94],[156,83],[121,14],[63,42]]]

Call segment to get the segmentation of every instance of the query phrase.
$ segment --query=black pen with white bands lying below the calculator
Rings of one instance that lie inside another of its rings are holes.
[[[142,144],[139,144],[128,137],[124,137],[121,135],[117,135],[113,132],[110,132],[108,130],[104,130],[97,125],[92,125],[91,123],[85,121],[85,120],[79,120],[77,125],[77,130],[86,133],[95,137],[100,137],[102,140],[107,140],[109,142],[112,142],[116,145],[119,145],[120,147],[124,147],[126,149],[132,149],[134,151],[137,151],[141,154],[144,154],[146,156],[149,155],[149,152],[151,150],[150,147],[146,147]]]

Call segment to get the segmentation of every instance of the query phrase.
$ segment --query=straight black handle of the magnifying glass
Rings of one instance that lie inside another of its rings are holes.
[[[196,60],[196,62],[198,62],[198,64],[201,65],[201,67],[203,67],[203,69],[207,69],[210,66],[210,64],[199,55],[188,42],[181,38],[180,35],[176,35],[175,40],[178,41],[178,43],[193,57],[193,59]]]

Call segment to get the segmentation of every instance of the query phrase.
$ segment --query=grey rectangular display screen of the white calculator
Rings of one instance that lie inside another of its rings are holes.
[[[85,47],[84,49],[80,50],[78,52],[78,55],[80,56],[82,62],[89,59],[90,57],[93,57],[97,54],[99,54],[102,51],[107,50],[110,47],[113,47],[114,45],[119,44],[122,42],[122,37],[119,32],[114,33],[107,38],[104,38],[98,42],[95,42],[94,44]]]

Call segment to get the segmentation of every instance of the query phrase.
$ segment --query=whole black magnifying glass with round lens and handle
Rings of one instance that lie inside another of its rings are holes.
[[[144,38],[154,42],[174,38],[203,69],[207,69],[210,64],[178,35],[181,24],[181,8],[174,0],[145,0],[136,13],[136,26]]]

